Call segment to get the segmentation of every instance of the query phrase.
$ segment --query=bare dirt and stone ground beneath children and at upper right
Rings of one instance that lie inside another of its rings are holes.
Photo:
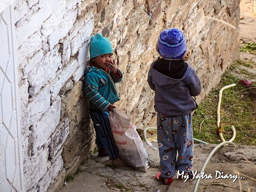
[[[254,0],[241,0],[240,9],[240,45],[244,46],[249,42],[256,43],[256,13],[253,12]],[[256,62],[256,55],[240,52],[240,60],[252,60]],[[248,73],[256,74],[256,67],[250,68],[241,65],[239,68],[243,68],[248,71]],[[240,79],[249,78],[246,73],[239,73],[238,69],[234,72],[234,76]],[[249,80],[256,82],[256,79]],[[157,143],[154,142],[156,141],[156,134],[152,134],[151,138],[148,139],[157,147]],[[97,154],[94,154],[85,164],[80,166],[79,170],[81,172],[75,176],[75,179],[68,181],[67,185],[62,187],[59,191],[193,191],[196,180],[184,183],[182,180],[174,179],[170,186],[161,185],[161,183],[155,180],[155,174],[159,172],[158,150],[153,150],[146,143],[144,144],[149,156],[150,167],[147,173],[136,171],[128,166],[113,167],[108,157],[99,158]],[[216,144],[195,144],[193,170],[200,172],[205,159],[215,146]],[[233,146],[221,147],[212,156],[205,169],[205,174],[212,174],[213,178],[201,180],[197,191],[255,191],[255,167],[255,146],[238,145],[236,148]],[[232,175],[236,175],[236,172],[239,172],[239,176],[242,177],[242,179],[237,179],[235,182],[232,182],[231,179],[216,180],[215,170]]]

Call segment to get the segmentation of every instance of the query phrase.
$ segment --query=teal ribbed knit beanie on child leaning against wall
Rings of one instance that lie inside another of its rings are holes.
[[[113,47],[107,37],[97,33],[91,37],[90,58],[104,54],[113,54]]]

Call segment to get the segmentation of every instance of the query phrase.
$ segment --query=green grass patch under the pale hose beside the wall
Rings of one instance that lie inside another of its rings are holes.
[[[232,70],[232,67],[230,68]],[[236,129],[236,144],[256,145],[256,103],[251,97],[246,95],[246,90],[239,92],[245,87],[238,83],[239,79],[232,76],[230,71],[223,74],[218,86],[208,94],[200,103],[198,109],[193,115],[193,134],[196,139],[204,140],[209,143],[220,143],[217,130],[217,105],[219,100],[219,91],[222,87],[235,83],[235,87],[226,89],[222,93],[222,102],[220,107],[220,121],[225,140],[232,137],[231,125]],[[201,126],[200,123],[207,117]]]

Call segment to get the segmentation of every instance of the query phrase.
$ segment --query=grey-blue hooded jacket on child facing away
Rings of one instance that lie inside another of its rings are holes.
[[[163,63],[162,65],[165,65],[165,70],[159,72],[161,61]],[[158,69],[157,66],[154,67],[155,62],[158,62]],[[175,67],[176,69],[179,69],[179,66],[177,65],[180,65],[180,69],[183,69],[184,71],[179,79],[170,77],[179,73],[179,70],[173,73]],[[172,75],[167,76],[167,74]],[[150,88],[155,91],[154,107],[156,112],[160,114],[180,116],[189,114],[197,108],[196,101],[192,96],[200,94],[200,80],[197,77],[195,70],[181,60],[164,61],[161,59],[154,61],[148,72],[148,84]]]

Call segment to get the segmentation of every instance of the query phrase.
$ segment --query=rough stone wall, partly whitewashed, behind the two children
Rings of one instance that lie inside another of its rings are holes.
[[[94,147],[83,72],[92,34],[107,36],[124,73],[118,108],[155,125],[147,73],[164,28],[181,28],[201,101],[238,57],[239,0],[17,0],[15,27],[25,188],[56,191]],[[223,20],[234,27],[214,19]]]

